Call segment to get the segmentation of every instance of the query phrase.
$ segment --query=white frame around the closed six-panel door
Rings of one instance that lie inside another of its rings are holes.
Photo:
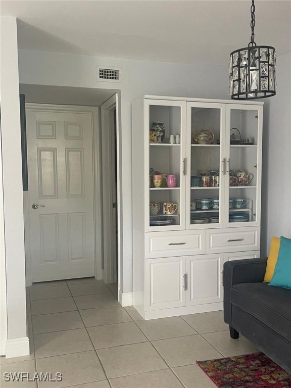
[[[101,166],[100,166],[100,134],[99,134],[99,108],[83,107],[78,105],[55,104],[25,104],[26,111],[42,111],[53,113],[80,113],[89,114],[92,122],[92,156],[93,156],[93,217],[94,217],[94,276],[102,279],[102,212],[101,212]],[[29,173],[29,172],[28,172]],[[25,267],[26,286],[32,285],[31,250],[30,250],[30,216],[28,191],[23,192],[24,229],[25,229]]]

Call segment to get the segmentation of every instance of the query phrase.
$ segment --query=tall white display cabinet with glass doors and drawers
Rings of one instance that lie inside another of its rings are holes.
[[[145,319],[221,309],[223,263],[259,256],[262,105],[132,104],[133,305]]]

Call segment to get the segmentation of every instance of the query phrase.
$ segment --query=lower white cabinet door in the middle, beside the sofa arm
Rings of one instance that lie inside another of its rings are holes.
[[[186,256],[186,305],[222,302],[222,254]]]

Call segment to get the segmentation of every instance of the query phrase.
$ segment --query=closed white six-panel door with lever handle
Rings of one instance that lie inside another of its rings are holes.
[[[92,116],[26,120],[32,281],[94,276]]]

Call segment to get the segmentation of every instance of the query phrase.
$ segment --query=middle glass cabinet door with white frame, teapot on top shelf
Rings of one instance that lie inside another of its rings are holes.
[[[186,225],[217,228],[223,222],[225,105],[187,104]]]

